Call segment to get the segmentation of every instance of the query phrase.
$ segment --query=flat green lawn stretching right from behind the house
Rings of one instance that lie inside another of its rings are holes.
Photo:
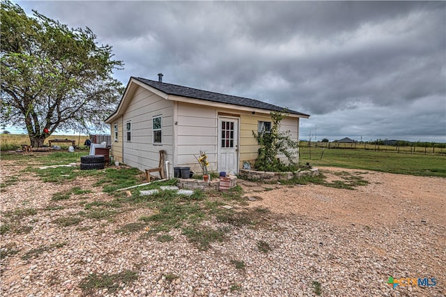
[[[309,148],[301,147],[299,161],[301,165],[309,162],[312,166],[369,169],[397,174],[446,177],[445,155],[312,148],[312,158],[310,159]]]

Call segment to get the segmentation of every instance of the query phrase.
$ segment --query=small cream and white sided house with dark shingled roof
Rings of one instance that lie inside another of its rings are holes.
[[[174,167],[200,172],[194,156],[208,156],[210,172],[238,174],[244,161],[257,158],[259,145],[252,131],[268,130],[270,112],[282,111],[266,102],[187,86],[130,77],[114,114],[105,121],[112,128],[114,160],[144,170],[158,167],[160,151]],[[299,139],[299,121],[308,114],[287,110],[282,130]]]

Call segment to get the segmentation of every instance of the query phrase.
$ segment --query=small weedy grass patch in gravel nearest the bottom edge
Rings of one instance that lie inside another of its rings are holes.
[[[126,270],[116,274],[91,273],[80,282],[82,292],[91,296],[98,289],[107,289],[107,294],[114,294],[121,289],[121,284],[130,284],[138,279],[137,271]]]

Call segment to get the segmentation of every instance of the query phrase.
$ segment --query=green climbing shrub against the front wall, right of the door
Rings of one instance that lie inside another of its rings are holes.
[[[252,134],[260,144],[259,156],[257,157],[255,167],[257,170],[281,172],[287,167],[295,165],[296,149],[298,142],[291,139],[289,131],[280,132],[280,122],[288,116],[286,112],[270,112],[271,116],[271,130],[261,131]],[[289,164],[277,158],[277,155],[282,154],[288,159]]]

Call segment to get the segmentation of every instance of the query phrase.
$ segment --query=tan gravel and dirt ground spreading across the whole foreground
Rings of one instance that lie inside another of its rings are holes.
[[[61,227],[56,218],[82,211],[77,200],[54,206],[55,192],[75,185],[90,188],[87,201],[113,197],[77,178],[66,185],[43,183],[23,167],[1,161],[1,182],[19,176],[1,191],[1,212],[36,209],[22,215],[22,231],[1,235],[3,296],[445,296],[446,183],[426,178],[322,168],[328,181],[343,171],[362,176],[367,185],[355,190],[323,185],[263,185],[240,181],[247,206],[235,211],[266,209],[262,224],[226,227],[223,242],[199,250],[178,229],[173,241],[116,230],[154,210],[132,208],[114,222],[83,220]],[[18,214],[20,215],[20,214]],[[2,222],[3,215],[2,215]],[[28,229],[26,229],[28,228]],[[258,243],[267,243],[262,252]],[[243,264],[240,267],[236,264]],[[137,272],[137,279],[115,291],[82,291],[89,275]],[[436,278],[436,286],[386,284],[389,277]]]

